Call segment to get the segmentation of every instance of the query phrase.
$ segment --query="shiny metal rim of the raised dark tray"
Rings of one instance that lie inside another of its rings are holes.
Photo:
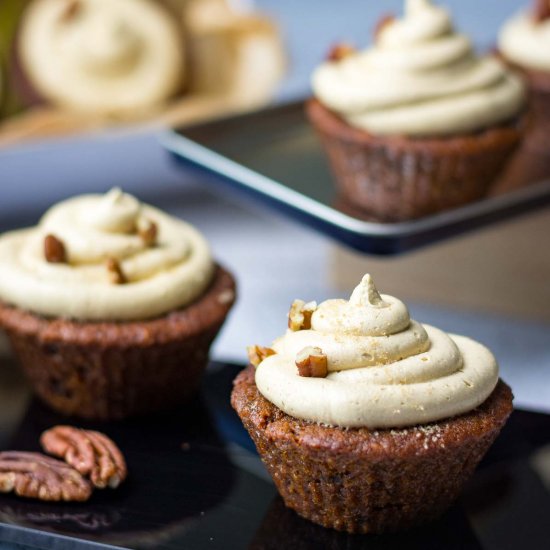
[[[213,176],[218,182],[223,181],[232,184],[235,188],[241,188],[277,210],[291,213],[302,222],[320,228],[325,234],[366,253],[397,254],[413,250],[430,242],[509,219],[525,211],[550,204],[550,180],[544,180],[417,220],[397,223],[364,221],[322,204],[180,133],[208,126],[216,127],[228,121],[250,120],[260,114],[276,113],[302,104],[303,101],[293,101],[268,109],[226,116],[181,128],[170,128],[159,132],[157,137],[161,146],[173,157],[198,169],[203,175]],[[471,225],[468,225],[469,223]],[[441,234],[438,234],[439,230]],[[378,246],[374,243],[361,243],[361,239],[376,239]],[[400,240],[405,241],[405,246],[400,246]]]

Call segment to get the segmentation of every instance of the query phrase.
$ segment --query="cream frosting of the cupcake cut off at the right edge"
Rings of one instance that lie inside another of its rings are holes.
[[[550,71],[550,19],[535,21],[529,13],[518,13],[502,28],[498,47],[518,65]]]

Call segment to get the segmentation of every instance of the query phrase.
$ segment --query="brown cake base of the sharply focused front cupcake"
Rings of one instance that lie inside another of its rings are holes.
[[[477,409],[430,425],[343,429],[285,414],[259,393],[248,367],[231,403],[286,506],[324,527],[381,533],[449,507],[512,412],[512,392],[499,381]]]

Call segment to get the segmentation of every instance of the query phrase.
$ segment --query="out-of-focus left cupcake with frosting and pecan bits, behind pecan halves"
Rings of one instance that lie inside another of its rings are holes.
[[[234,299],[196,229],[118,189],[0,237],[0,327],[36,394],[67,415],[187,400]]]

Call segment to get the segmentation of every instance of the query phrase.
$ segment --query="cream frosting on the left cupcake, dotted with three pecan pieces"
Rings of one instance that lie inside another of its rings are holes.
[[[152,245],[137,231],[156,225]],[[46,260],[53,235],[66,261]],[[107,259],[119,262],[125,284],[113,284]],[[144,320],[197,298],[213,261],[189,224],[113,189],[52,207],[35,228],[0,237],[0,300],[38,314],[78,320]]]

